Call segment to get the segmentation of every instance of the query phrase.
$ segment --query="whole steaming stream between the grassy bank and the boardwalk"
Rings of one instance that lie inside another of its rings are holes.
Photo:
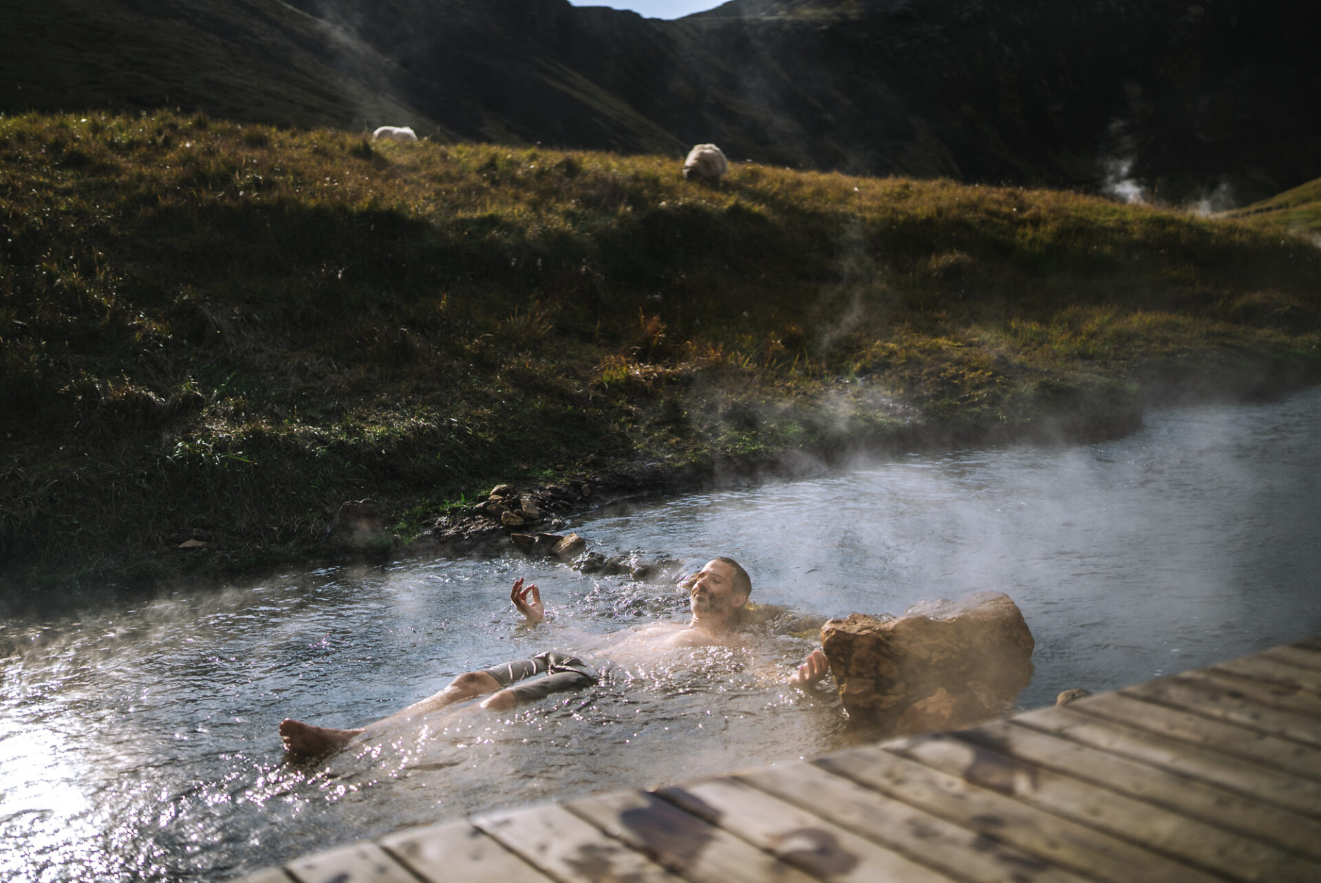
[[[1022,707],[1321,632],[1321,389],[1149,414],[1070,448],[914,453],[770,486],[617,504],[593,549],[716,554],[756,600],[901,613],[1007,592],[1036,636]],[[553,620],[518,628],[509,584]],[[667,583],[513,555],[289,574],[0,625],[0,878],[222,880],[398,827],[811,756],[857,736],[778,681],[812,646],[606,666],[514,712],[460,709],[309,767],[284,716],[359,726],[454,674],[680,617]]]

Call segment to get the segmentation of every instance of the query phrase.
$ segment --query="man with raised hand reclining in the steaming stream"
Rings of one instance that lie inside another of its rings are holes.
[[[630,632],[612,645],[612,656],[688,646],[746,646],[748,640],[738,632],[738,624],[741,608],[752,594],[748,571],[732,558],[716,558],[691,576],[687,586],[688,609],[692,611],[692,619],[687,625],[662,623]],[[535,627],[546,615],[540,590],[535,584],[524,587],[522,578],[514,582],[510,600],[527,617],[528,625]],[[815,683],[826,675],[826,656],[820,650],[812,650],[789,682]],[[528,679],[538,674],[544,677]],[[284,720],[280,724],[280,736],[291,753],[314,757],[342,748],[358,736],[370,738],[375,732],[439,711],[456,702],[485,695],[486,699],[481,702],[483,709],[510,709],[552,693],[576,690],[593,683],[596,675],[581,660],[550,650],[530,660],[517,660],[482,672],[465,672],[440,693],[358,730],[334,730],[301,720]]]

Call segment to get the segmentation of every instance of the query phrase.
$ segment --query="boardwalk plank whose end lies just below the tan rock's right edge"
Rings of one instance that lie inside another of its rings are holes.
[[[1205,781],[1018,723],[996,722],[952,735],[1061,776],[1100,785],[1186,818],[1201,820],[1246,839],[1321,859],[1321,822]],[[1321,879],[1321,863],[1316,870],[1317,879]]]

